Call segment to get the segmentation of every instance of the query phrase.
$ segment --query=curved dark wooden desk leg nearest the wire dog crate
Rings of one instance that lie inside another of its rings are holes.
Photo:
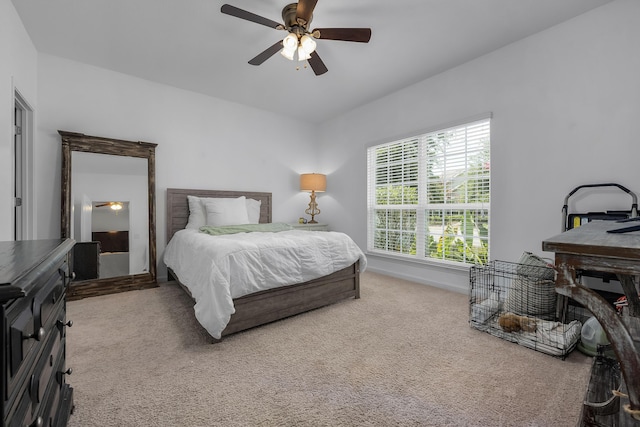
[[[616,310],[600,295],[578,283],[573,267],[561,263],[557,269],[556,292],[587,307],[607,334],[627,384],[632,416],[640,420],[640,349],[635,348],[633,338]]]

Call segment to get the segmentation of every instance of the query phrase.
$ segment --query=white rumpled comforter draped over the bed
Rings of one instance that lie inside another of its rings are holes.
[[[164,262],[189,288],[195,315],[220,338],[235,308],[233,298],[326,276],[366,258],[344,233],[291,230],[211,236],[178,231]]]

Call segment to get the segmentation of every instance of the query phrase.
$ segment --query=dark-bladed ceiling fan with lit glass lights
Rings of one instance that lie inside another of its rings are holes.
[[[316,3],[318,3],[318,0],[299,0],[298,3],[286,5],[282,9],[284,24],[247,12],[230,4],[223,4],[220,11],[236,18],[288,32],[283,40],[279,40],[273,46],[258,54],[249,61],[249,64],[260,65],[280,51],[287,59],[293,60],[297,54],[299,61],[308,61],[313,72],[316,76],[319,76],[326,73],[328,69],[315,50],[316,42],[314,39],[368,43],[371,39],[371,28],[315,28],[309,31],[309,24],[313,18],[313,9],[316,7]]]

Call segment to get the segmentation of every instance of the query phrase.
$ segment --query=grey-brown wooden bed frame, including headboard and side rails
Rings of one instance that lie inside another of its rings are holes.
[[[248,191],[218,191],[167,189],[167,242],[187,225],[189,203],[187,195],[197,197],[240,197],[260,200],[260,223],[271,222],[271,193]],[[189,294],[176,274],[172,278]],[[347,298],[360,298],[359,262],[328,276],[309,282],[260,291],[233,300],[236,312],[231,315],[222,336],[264,325],[289,316],[304,313]]]

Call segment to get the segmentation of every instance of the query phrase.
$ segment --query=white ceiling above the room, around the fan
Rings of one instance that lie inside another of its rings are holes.
[[[39,52],[321,123],[612,0],[319,0],[310,27],[370,27],[368,44],[318,40],[329,69],[276,54],[286,33],[219,0],[12,0]],[[282,22],[287,0],[227,0]]]

